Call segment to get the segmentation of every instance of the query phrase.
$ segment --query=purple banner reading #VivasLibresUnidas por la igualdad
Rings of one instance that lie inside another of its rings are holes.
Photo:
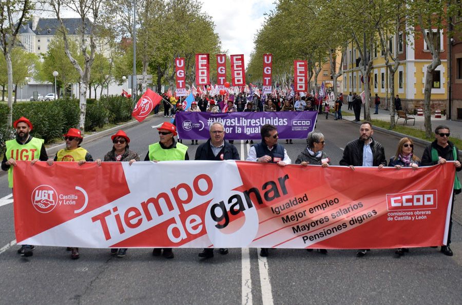
[[[180,139],[208,139],[209,126],[219,121],[225,128],[225,139],[261,139],[260,128],[265,124],[276,126],[281,139],[304,139],[313,131],[317,111],[280,112],[187,112],[175,115]]]

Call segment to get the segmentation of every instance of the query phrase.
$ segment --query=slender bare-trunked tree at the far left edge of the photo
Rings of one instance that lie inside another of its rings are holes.
[[[11,52],[17,34],[33,9],[29,0],[0,0],[0,51],[5,57],[8,74],[8,125],[13,124],[13,66]]]

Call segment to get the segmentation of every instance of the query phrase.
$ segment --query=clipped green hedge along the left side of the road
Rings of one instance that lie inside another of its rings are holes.
[[[131,118],[132,100],[123,96],[87,99],[85,130],[94,131],[106,123],[120,123]],[[49,143],[66,131],[77,128],[80,120],[79,100],[62,98],[51,101],[31,101],[13,104],[13,121],[21,116],[33,124],[31,134]],[[14,137],[14,130],[7,126],[8,106],[0,104],[0,154],[5,152],[5,140]]]

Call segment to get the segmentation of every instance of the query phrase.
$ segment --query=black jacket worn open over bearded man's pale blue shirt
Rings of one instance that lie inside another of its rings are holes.
[[[345,146],[345,150],[343,151],[342,159],[340,160],[340,165],[342,166],[362,166],[362,149],[364,148],[364,141],[360,139],[356,139],[350,141],[350,143]],[[382,164],[383,166],[387,166],[387,159],[385,158],[385,150],[383,146],[375,141],[372,140],[371,143],[371,150],[372,150],[372,166],[379,166]]]

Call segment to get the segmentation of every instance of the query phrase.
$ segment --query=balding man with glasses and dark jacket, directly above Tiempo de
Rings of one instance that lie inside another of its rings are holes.
[[[210,126],[210,138],[199,145],[195,160],[240,160],[236,146],[224,140],[225,131],[221,123],[215,122]],[[220,254],[228,254],[228,249],[220,248]],[[205,248],[199,257],[214,257],[214,248]]]

